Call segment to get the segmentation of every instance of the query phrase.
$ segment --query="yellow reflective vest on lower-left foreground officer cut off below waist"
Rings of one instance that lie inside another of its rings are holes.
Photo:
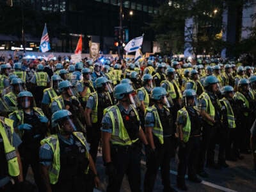
[[[88,152],[88,146],[86,146],[86,140],[81,132],[73,132],[72,133],[76,138],[84,145],[86,148],[86,158],[89,160],[89,152]],[[60,143],[58,140],[58,136],[56,134],[52,134],[48,138],[45,138],[42,140],[41,145],[44,145],[47,143],[50,145],[53,153],[53,162],[51,167],[49,168],[49,179],[51,184],[56,184],[58,182],[59,176],[60,176]],[[89,164],[88,167],[86,168],[86,174],[88,173],[89,170]]]

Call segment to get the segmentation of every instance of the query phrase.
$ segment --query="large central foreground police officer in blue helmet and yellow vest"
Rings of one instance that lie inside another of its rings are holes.
[[[140,118],[132,97],[130,84],[115,86],[118,104],[105,109],[102,119],[102,152],[109,177],[107,191],[120,191],[124,174],[127,174],[131,191],[140,191],[139,138],[147,145],[140,127]]]

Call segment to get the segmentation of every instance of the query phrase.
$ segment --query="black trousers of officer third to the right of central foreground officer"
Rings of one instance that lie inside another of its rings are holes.
[[[216,127],[205,123],[202,133],[202,141],[200,143],[200,152],[198,159],[198,172],[204,170],[205,159],[207,164],[214,163]]]

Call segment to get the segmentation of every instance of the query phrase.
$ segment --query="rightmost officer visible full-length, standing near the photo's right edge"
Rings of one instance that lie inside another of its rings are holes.
[[[250,128],[252,126],[253,95],[249,89],[248,79],[241,79],[238,82],[237,92],[234,95],[239,114],[237,115],[237,128],[239,129],[240,150],[242,153],[250,154]]]

